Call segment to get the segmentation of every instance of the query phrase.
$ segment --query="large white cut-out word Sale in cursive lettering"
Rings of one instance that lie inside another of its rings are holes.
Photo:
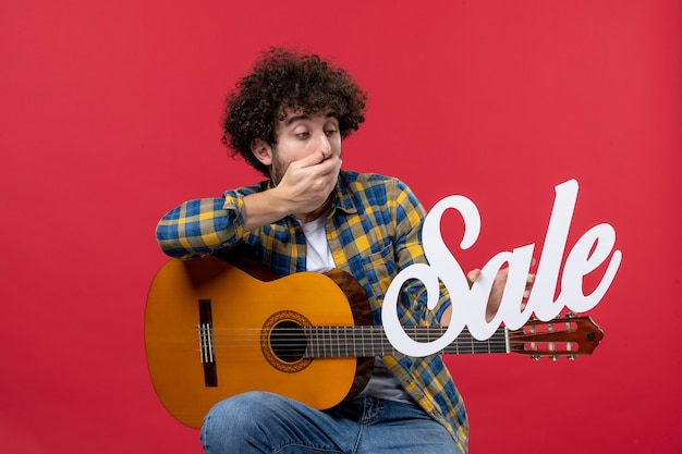
[[[440,220],[448,209],[455,209],[464,220],[464,233],[460,247],[472,247],[480,232],[478,209],[464,196],[450,196],[440,200],[429,211],[423,230],[424,250],[429,265],[415,263],[403,269],[391,282],[383,300],[382,323],[386,334],[395,349],[409,356],[427,356],[442,351],[468,328],[472,335],[486,340],[503,322],[511,330],[521,328],[533,312],[540,320],[557,317],[567,307],[582,312],[594,308],[611,285],[622,259],[620,250],[613,250],[616,231],[607,223],[600,223],[587,230],[565,258],[561,273],[561,292],[555,299],[555,293],[571,220],[577,200],[577,181],[570,180],[555,187],[556,196],[549,218],[549,225],[539,257],[533,291],[522,308],[523,292],[529,272],[535,244],[520,246],[509,251],[501,251],[490,258],[482,268],[479,279],[470,289],[466,273],[450,253],[440,232]],[[608,258],[606,271],[594,291],[585,295],[583,277],[593,272]],[[495,318],[486,321],[486,305],[498,270],[509,266],[509,278],[504,295]],[[428,293],[427,306],[434,309],[439,297],[439,280],[450,293],[452,319],[444,334],[431,342],[417,342],[410,338],[398,319],[398,297],[402,285],[411,279],[422,281]]]

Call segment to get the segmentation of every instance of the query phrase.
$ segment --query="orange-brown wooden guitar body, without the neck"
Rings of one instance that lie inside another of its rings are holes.
[[[214,257],[168,261],[145,311],[149,373],[166,409],[199,428],[215,403],[247,391],[319,409],[360,392],[372,358],[282,358],[270,345],[277,327],[370,324],[366,297],[362,290],[349,297],[339,286],[346,281],[352,278],[339,270],[261,281]],[[210,324],[202,320],[207,310]],[[204,323],[210,328],[197,332]],[[211,336],[210,351],[199,342],[204,336]]]

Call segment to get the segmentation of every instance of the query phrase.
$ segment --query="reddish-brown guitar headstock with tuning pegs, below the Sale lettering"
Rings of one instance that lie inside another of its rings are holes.
[[[574,314],[549,321],[528,320],[521,329],[509,331],[510,352],[535,359],[592,355],[602,339],[604,331],[592,318]]]

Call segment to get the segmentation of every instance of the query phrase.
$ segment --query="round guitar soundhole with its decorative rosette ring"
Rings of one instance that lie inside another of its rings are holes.
[[[305,357],[307,339],[304,326],[310,322],[299,312],[273,314],[260,332],[260,347],[270,366],[282,372],[299,372],[313,361]]]

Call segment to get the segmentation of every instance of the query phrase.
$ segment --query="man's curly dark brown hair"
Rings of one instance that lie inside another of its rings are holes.
[[[365,121],[367,94],[343,69],[316,54],[271,48],[236,88],[226,100],[222,142],[231,156],[241,155],[266,177],[269,170],[252,154],[251,145],[255,138],[277,144],[276,122],[284,119],[287,110],[308,114],[333,110],[342,138]]]

